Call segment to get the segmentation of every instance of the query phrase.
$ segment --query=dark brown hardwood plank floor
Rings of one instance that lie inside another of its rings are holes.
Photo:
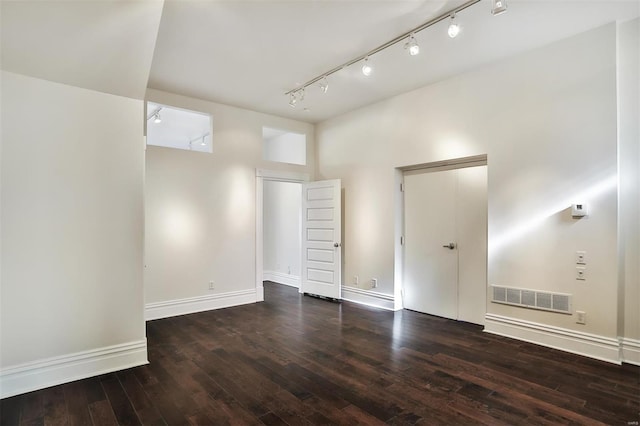
[[[5,425],[637,425],[640,368],[266,283],[151,321],[150,364],[0,401]]]

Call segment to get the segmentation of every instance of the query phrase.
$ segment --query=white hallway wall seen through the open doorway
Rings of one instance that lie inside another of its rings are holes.
[[[264,271],[272,281],[300,278],[301,204],[301,184],[264,182]]]

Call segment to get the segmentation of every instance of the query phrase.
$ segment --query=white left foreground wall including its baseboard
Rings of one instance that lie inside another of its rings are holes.
[[[2,72],[2,396],[146,362],[143,114]]]

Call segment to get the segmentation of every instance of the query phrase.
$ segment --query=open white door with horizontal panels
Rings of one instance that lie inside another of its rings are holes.
[[[341,299],[340,180],[302,185],[302,293]]]

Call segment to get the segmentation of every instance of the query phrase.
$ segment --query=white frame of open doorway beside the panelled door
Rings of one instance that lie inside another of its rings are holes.
[[[292,182],[303,184],[310,181],[308,173],[256,169],[256,302],[264,302],[264,182]],[[302,212],[300,213],[302,215]],[[302,220],[302,216],[300,216]],[[300,252],[302,264],[302,252]],[[298,286],[300,291],[301,286]]]

